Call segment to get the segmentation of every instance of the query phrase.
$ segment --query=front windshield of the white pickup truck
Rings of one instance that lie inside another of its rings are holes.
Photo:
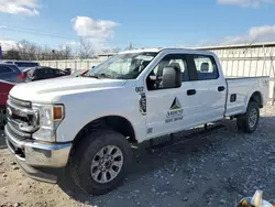
[[[157,53],[127,53],[116,55],[90,69],[86,77],[135,79]]]

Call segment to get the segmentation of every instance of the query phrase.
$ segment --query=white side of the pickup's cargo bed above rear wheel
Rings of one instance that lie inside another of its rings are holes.
[[[226,116],[244,113],[250,97],[255,91],[262,94],[263,105],[268,100],[268,76],[227,77],[226,80],[228,85]]]

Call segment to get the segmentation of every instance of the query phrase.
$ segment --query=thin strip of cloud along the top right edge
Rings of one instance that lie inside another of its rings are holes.
[[[234,4],[239,7],[252,7],[256,8],[265,3],[275,3],[275,0],[217,0],[220,4]]]

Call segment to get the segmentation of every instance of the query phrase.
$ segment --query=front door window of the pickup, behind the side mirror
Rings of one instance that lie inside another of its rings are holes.
[[[189,74],[187,68],[187,61],[184,54],[170,54],[166,55],[151,72],[147,77],[147,89],[165,89],[162,85],[163,69],[166,66],[177,67],[180,70],[182,81],[189,80]]]

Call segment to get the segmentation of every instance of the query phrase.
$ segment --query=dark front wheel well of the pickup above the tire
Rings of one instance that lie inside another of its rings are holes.
[[[87,133],[92,133],[92,131],[99,130],[99,129],[112,129],[117,132],[120,132],[122,135],[124,135],[130,143],[136,143],[135,134],[132,124],[129,120],[127,120],[123,117],[119,116],[109,116],[109,117],[102,117],[99,119],[96,119],[88,124],[86,124],[76,135],[76,138],[73,141],[73,149],[79,143],[81,138],[85,137]]]

